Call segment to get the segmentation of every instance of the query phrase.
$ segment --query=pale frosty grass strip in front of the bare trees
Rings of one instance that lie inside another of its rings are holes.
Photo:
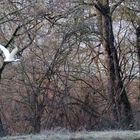
[[[3,137],[0,140],[140,140],[140,131],[47,132],[41,135]]]

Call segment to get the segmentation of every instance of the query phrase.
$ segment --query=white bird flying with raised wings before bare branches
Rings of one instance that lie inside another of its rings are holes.
[[[15,58],[15,55],[16,55],[17,52],[18,52],[18,48],[17,48],[17,47],[15,47],[15,48],[11,51],[11,53],[9,52],[9,50],[8,50],[7,48],[5,48],[4,46],[2,46],[1,44],[0,44],[0,49],[3,51],[3,54],[4,54],[4,56],[5,56],[4,62],[17,62],[17,61],[20,60],[20,59],[16,59],[16,58]]]

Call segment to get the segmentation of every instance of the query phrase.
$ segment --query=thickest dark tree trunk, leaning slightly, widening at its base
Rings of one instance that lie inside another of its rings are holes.
[[[111,110],[115,128],[131,129],[134,126],[131,105],[120,76],[117,50],[114,46],[114,34],[109,1],[100,4],[103,21],[103,46],[106,51]]]

